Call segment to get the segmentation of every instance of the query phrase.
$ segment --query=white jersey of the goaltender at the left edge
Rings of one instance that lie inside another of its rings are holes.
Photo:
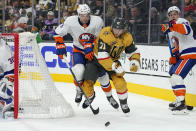
[[[11,48],[0,39],[0,79],[14,74],[14,55]]]

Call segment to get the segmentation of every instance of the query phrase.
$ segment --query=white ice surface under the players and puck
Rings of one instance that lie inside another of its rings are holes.
[[[75,115],[65,119],[0,119],[0,131],[195,131],[196,110],[188,115],[172,115],[169,102],[129,93],[129,116],[121,110],[114,110],[107,102],[103,91],[96,87],[94,108],[99,107],[98,115],[89,108],[82,109],[74,103],[73,84],[56,83],[66,100],[72,105]],[[114,97],[117,99],[115,90]],[[105,123],[110,125],[105,127]]]

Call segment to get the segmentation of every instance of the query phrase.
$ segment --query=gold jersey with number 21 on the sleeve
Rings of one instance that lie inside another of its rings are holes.
[[[116,38],[112,33],[111,27],[105,27],[101,30],[94,45],[94,53],[99,63],[108,71],[112,70],[114,61],[120,58],[120,55],[125,51],[132,59],[132,55],[137,50],[132,35],[128,32],[123,33]],[[139,59],[139,54],[134,56]]]

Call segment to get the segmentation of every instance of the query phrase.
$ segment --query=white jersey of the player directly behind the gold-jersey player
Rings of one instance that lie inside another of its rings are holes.
[[[59,25],[55,30],[55,35],[64,36],[70,34],[73,37],[73,45],[79,49],[83,49],[83,46],[79,43],[78,38],[83,33],[93,34],[98,36],[103,27],[103,20],[99,16],[90,16],[90,24],[84,28],[80,25],[78,16],[70,16],[66,21]]]

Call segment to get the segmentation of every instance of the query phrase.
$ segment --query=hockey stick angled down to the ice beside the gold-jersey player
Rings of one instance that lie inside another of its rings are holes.
[[[69,63],[68,63],[68,61],[67,61],[67,59],[66,59],[66,56],[63,56],[63,60],[64,60],[64,62],[66,63],[67,67],[69,68],[69,70],[70,70],[70,72],[71,72],[71,74],[72,74],[74,80],[75,80],[76,83],[78,84],[78,86],[79,86],[79,88],[81,89],[82,93],[84,94],[84,97],[86,98],[86,100],[87,100],[87,102],[88,102],[88,104],[89,104],[89,106],[90,106],[90,108],[91,108],[93,114],[94,114],[94,115],[97,115],[97,114],[99,113],[99,107],[98,107],[96,110],[93,109],[93,107],[92,107],[92,105],[91,105],[91,103],[90,103],[88,97],[86,96],[86,94],[84,93],[84,91],[83,91],[81,85],[80,85],[79,82],[77,81],[76,76],[75,76],[75,74],[73,73],[73,71],[72,71],[72,69],[71,69],[71,67],[70,67],[70,65],[69,65]]]

